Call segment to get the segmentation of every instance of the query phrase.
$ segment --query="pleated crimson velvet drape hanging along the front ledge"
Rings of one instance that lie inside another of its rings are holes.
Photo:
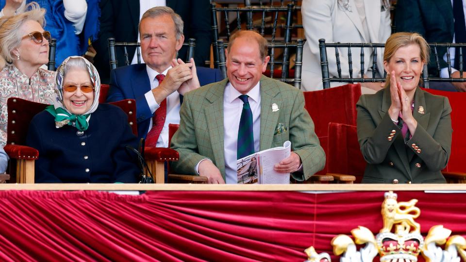
[[[419,200],[424,235],[438,224],[466,234],[465,194],[397,193]],[[3,191],[0,260],[304,261],[309,246],[332,254],[337,234],[381,229],[382,201],[383,192]]]

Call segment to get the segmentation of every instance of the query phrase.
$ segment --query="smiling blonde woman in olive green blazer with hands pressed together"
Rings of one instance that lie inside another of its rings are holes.
[[[392,34],[383,64],[385,88],[363,95],[356,107],[363,183],[444,183],[440,170],[451,147],[448,98],[419,88],[429,46],[417,33]]]

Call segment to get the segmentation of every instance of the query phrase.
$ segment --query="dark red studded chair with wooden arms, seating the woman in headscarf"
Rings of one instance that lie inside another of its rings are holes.
[[[137,135],[136,127],[136,103],[132,99],[117,101],[114,104],[120,107],[127,115],[133,133]],[[34,183],[34,161],[39,157],[39,152],[23,146],[29,123],[34,115],[43,111],[48,105],[36,103],[21,98],[8,98],[8,138],[4,147],[10,157],[10,182]],[[156,183],[164,182],[164,163],[177,161],[178,152],[170,148],[145,148],[145,158],[154,176]]]

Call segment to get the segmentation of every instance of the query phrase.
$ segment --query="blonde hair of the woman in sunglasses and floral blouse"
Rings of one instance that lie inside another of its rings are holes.
[[[24,13],[0,18],[0,70],[5,67],[6,63],[13,63],[16,59],[11,52],[21,43],[24,35],[19,29],[26,21],[33,20],[42,27],[45,26],[45,9],[40,8],[38,3],[29,3],[25,10]]]

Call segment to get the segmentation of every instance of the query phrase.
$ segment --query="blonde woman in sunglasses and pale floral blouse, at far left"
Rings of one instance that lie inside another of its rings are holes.
[[[44,32],[45,10],[28,5],[25,13],[0,18],[0,146],[6,144],[8,98],[51,104],[55,72],[49,63],[50,33]]]

